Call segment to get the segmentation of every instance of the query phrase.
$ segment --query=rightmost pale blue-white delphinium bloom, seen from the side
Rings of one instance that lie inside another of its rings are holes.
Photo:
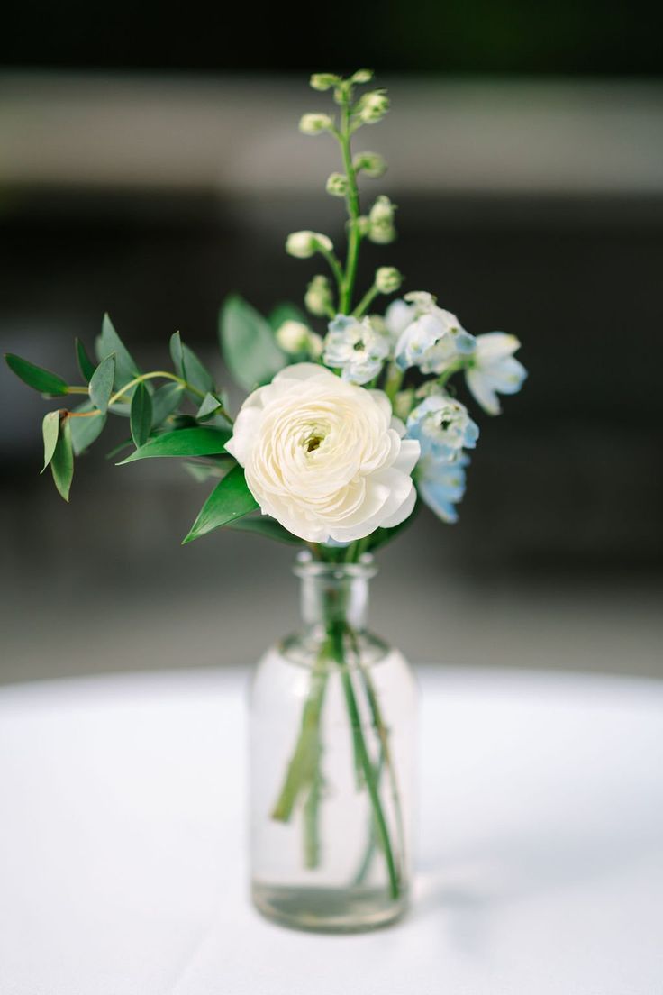
[[[467,386],[489,415],[499,415],[497,393],[515,394],[523,385],[527,370],[513,353],[520,348],[515,335],[489,331],[478,335],[471,366],[465,371]]]

